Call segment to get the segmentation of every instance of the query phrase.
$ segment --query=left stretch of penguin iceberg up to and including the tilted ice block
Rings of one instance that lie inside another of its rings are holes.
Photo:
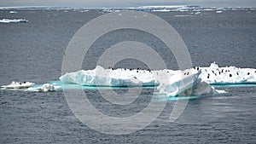
[[[201,70],[194,68],[184,71],[172,70],[131,70],[104,69],[96,66],[93,70],[69,72],[61,76],[62,83],[104,87],[141,87],[157,86],[160,94],[177,95],[212,95],[218,93],[212,86],[201,82]]]

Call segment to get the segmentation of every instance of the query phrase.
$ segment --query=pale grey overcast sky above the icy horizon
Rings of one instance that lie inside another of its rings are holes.
[[[256,0],[0,0],[0,7],[61,6],[116,8],[145,5],[199,5],[202,7],[256,7]]]

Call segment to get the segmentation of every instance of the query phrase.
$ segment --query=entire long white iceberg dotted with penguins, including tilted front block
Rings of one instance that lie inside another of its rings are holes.
[[[93,70],[68,72],[60,78],[62,83],[102,87],[157,87],[160,94],[214,95],[220,91],[210,84],[256,84],[256,69],[219,67],[215,62],[209,67],[178,70],[131,70],[104,69],[96,66]]]

